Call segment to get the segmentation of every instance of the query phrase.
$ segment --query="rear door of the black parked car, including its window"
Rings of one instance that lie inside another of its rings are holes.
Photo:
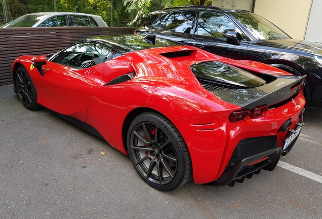
[[[195,16],[194,11],[166,14],[151,25],[155,29],[153,34],[163,39],[190,45]]]

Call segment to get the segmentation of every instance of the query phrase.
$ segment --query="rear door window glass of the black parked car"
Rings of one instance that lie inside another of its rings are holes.
[[[181,32],[181,33],[192,33],[192,23],[195,18],[195,12],[175,12],[172,13],[164,29]]]

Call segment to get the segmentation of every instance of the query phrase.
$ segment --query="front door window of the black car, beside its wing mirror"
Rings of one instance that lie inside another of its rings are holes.
[[[199,13],[197,35],[224,38],[222,31],[225,29],[235,29],[240,34],[240,38],[245,39],[243,33],[227,17],[211,12]]]

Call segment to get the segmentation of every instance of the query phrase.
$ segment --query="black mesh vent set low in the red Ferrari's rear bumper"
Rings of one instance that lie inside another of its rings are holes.
[[[237,144],[224,172],[230,172],[237,161],[276,148],[277,136],[245,138]]]

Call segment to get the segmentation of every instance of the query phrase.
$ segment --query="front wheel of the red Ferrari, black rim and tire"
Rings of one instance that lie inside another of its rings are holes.
[[[28,71],[23,66],[18,67],[15,75],[15,87],[22,104],[29,110],[40,108],[37,103],[37,91],[34,87]]]

